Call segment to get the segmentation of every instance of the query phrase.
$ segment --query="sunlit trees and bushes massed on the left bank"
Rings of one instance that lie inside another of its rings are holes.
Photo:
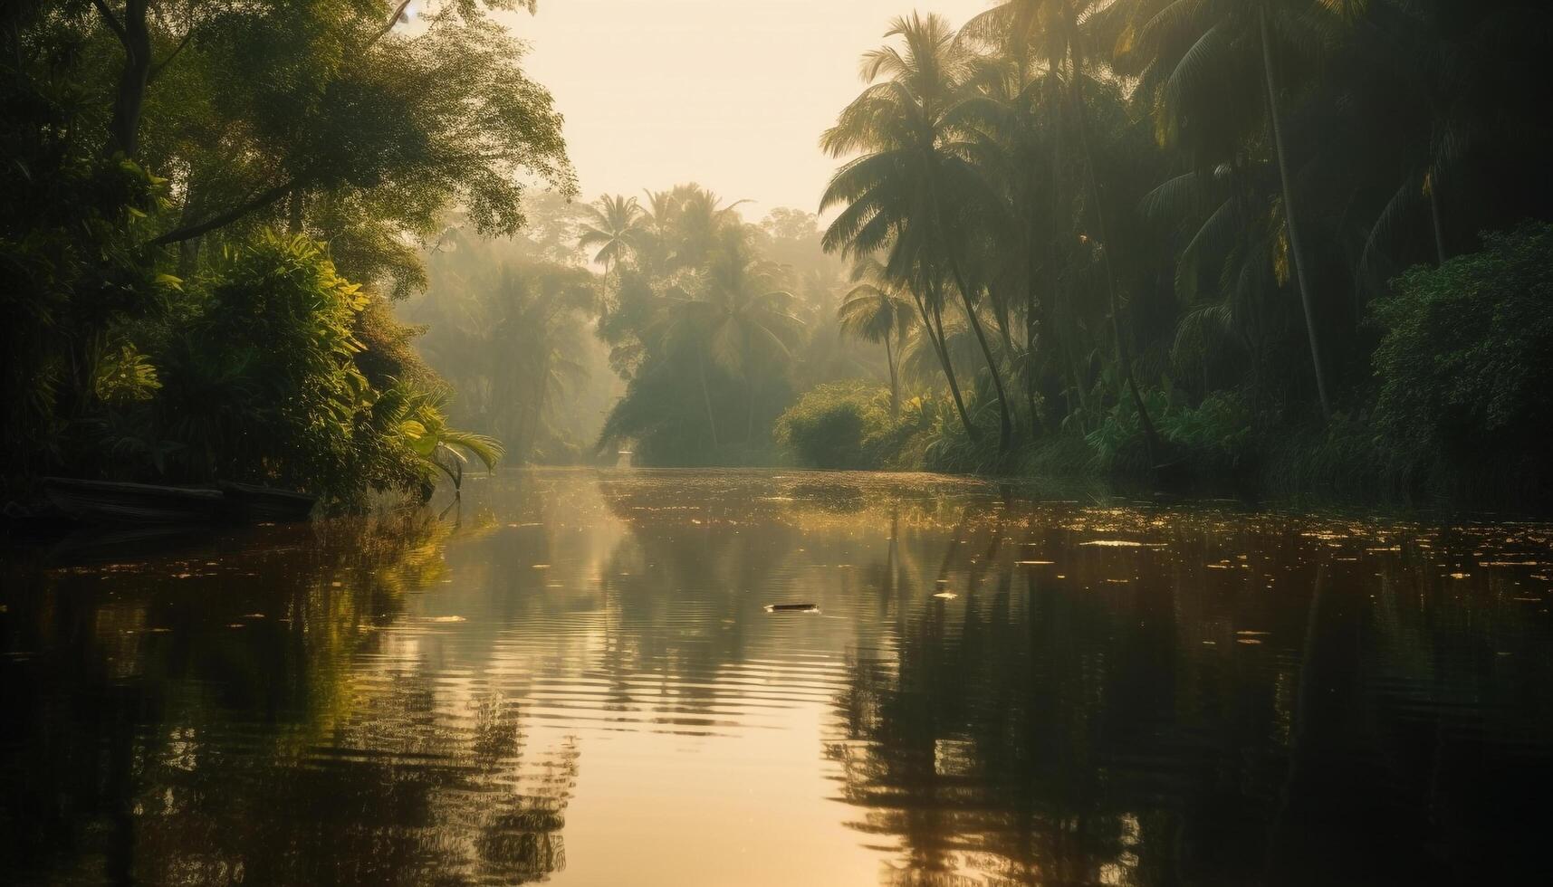
[[[359,502],[499,455],[446,426],[387,300],[424,284],[418,242],[453,205],[511,233],[523,183],[565,194],[572,171],[489,16],[531,3],[418,5],[398,26],[407,6],[5,6],[8,477]]]

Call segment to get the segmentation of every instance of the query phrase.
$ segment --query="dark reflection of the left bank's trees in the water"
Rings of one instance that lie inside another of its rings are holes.
[[[8,587],[6,870],[39,881],[526,882],[564,865],[575,744],[418,680],[430,519],[273,530]],[[57,551],[47,553],[50,559]]]

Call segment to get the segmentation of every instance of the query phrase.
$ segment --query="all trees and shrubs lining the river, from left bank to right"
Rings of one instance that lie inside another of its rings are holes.
[[[820,214],[747,222],[573,202],[511,9],[8,5],[5,499],[351,511],[624,450],[1550,500],[1550,11],[904,16],[817,134]]]

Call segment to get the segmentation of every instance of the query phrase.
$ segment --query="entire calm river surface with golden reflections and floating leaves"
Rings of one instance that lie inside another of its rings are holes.
[[[927,475],[75,541],[0,567],[0,881],[1545,884],[1550,578]]]

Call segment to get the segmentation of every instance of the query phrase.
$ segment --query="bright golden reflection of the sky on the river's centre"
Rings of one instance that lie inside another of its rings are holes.
[[[839,774],[817,766],[834,687],[845,679],[840,620],[778,617],[792,631],[756,640],[742,660],[725,660],[736,648],[717,635],[745,618],[739,604],[749,603],[739,583],[728,581],[735,564],[711,573],[719,581],[665,587],[668,564],[655,559],[663,547],[634,539],[632,506],[626,519],[617,516],[598,485],[564,483],[530,502],[536,513],[450,547],[447,584],[412,614],[467,620],[441,628],[421,654],[424,662],[463,662],[478,676],[439,682],[439,707],[457,710],[460,697],[495,691],[523,701],[530,746],[576,738],[567,868],[553,882],[874,882],[887,856],[865,850],[845,828],[848,809],[829,800]],[[477,494],[469,508],[480,503]],[[657,514],[705,527],[711,511]],[[635,517],[651,539],[655,516]],[[531,525],[536,519],[542,527]],[[781,573],[780,565],[772,570],[776,584],[800,586],[801,572],[789,583]],[[533,595],[542,604],[503,623],[503,595]],[[735,609],[724,615],[722,601]],[[621,654],[635,654],[634,668],[610,666]],[[481,657],[489,659],[472,662]]]

